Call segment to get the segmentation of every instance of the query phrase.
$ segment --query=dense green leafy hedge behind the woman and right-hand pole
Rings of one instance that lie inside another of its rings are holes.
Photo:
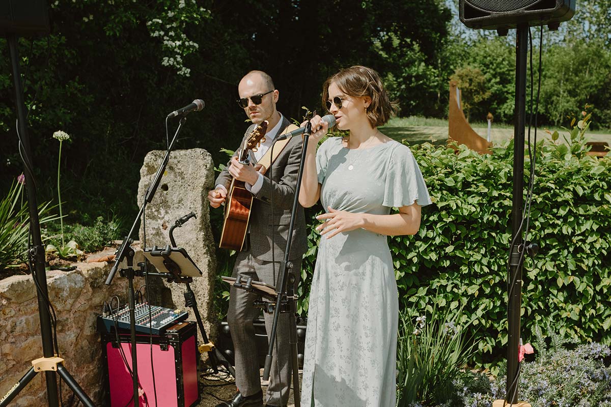
[[[539,254],[524,264],[522,337],[551,322],[580,341],[611,343],[611,159],[587,156],[584,131],[566,142],[538,142],[529,240]],[[507,343],[507,259],[511,237],[513,142],[494,154],[411,146],[433,204],[416,236],[389,237],[400,306],[413,314],[433,304],[464,306],[480,339],[478,362],[502,358]],[[530,161],[526,149],[524,185]],[[320,208],[318,208],[320,209]],[[299,309],[316,256],[318,221],[310,218]],[[365,312],[366,310],[364,310]]]

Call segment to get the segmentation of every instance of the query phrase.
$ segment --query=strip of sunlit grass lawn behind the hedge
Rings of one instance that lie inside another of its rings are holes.
[[[486,138],[488,132],[488,123],[472,123],[474,131]],[[540,127],[537,129],[537,140],[541,140],[541,137],[551,139],[551,136],[545,132],[546,127]],[[560,142],[564,139],[562,135],[568,138],[568,131],[562,128],[554,129],[560,134]],[[426,117],[397,117],[393,118],[380,128],[380,131],[386,134],[392,139],[397,141],[405,140],[408,144],[420,144],[420,143],[433,143],[436,145],[445,144],[448,140],[448,121],[437,118],[426,118]],[[528,129],[527,129],[528,131]],[[530,130],[531,140],[534,139],[534,129]],[[495,145],[506,142],[513,137],[513,126],[508,124],[492,123],[490,132],[492,143]],[[528,139],[528,134],[525,134]],[[611,130],[599,130],[587,133],[588,141],[593,142],[607,142],[611,145]]]

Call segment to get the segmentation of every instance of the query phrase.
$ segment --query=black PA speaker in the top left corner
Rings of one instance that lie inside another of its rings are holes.
[[[0,34],[48,34],[46,0],[0,0]]]

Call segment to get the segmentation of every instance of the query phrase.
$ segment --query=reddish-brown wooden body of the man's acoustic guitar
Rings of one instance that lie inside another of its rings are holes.
[[[239,251],[244,246],[248,220],[251,217],[252,194],[246,189],[243,181],[233,179],[226,202],[219,247]]]

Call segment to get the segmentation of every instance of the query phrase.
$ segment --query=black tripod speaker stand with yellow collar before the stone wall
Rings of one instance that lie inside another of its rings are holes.
[[[20,142],[20,152],[24,160],[24,175],[26,177],[27,207],[30,215],[30,232],[32,234],[33,245],[27,255],[31,265],[32,277],[37,287],[38,296],[38,316],[40,317],[40,336],[42,337],[43,357],[32,361],[32,367],[27,373],[10,389],[7,394],[0,399],[0,407],[9,405],[11,400],[27,386],[37,373],[45,372],[46,393],[49,406],[59,406],[57,395],[57,377],[59,374],[68,387],[81,400],[83,405],[94,407],[93,402],[87,397],[81,386],[70,375],[64,367],[64,359],[56,355],[53,350],[53,337],[51,336],[51,315],[49,314],[49,295],[46,286],[45,271],[45,249],[42,245],[40,236],[40,220],[38,219],[38,206],[36,203],[36,186],[34,183],[34,168],[32,168],[31,148],[29,135],[26,126],[26,107],[23,101],[23,87],[21,86],[21,76],[19,69],[19,56],[17,52],[17,37],[15,34],[8,36],[10,48],[10,60],[13,68],[13,84],[15,86],[15,100],[18,120],[18,136]],[[33,267],[32,267],[33,264]]]

